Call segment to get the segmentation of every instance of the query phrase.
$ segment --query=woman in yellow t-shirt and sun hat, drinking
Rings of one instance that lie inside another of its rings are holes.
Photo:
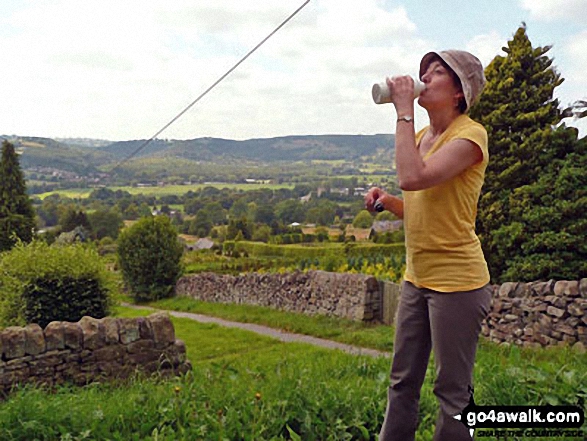
[[[430,125],[415,133],[414,83],[387,80],[397,112],[395,159],[403,201],[372,188],[377,204],[404,219],[406,272],[396,324],[382,441],[413,440],[420,389],[431,350],[440,412],[434,440],[470,440],[453,417],[472,395],[481,323],[491,301],[489,272],[475,234],[477,202],[488,162],[487,132],[465,112],[485,84],[472,54],[430,52],[420,63],[418,104]]]

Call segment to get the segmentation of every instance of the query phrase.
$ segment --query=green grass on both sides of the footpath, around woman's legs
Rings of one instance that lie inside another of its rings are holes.
[[[165,303],[158,302],[159,307]],[[179,304],[168,306],[174,308]],[[185,306],[185,305],[184,305]],[[186,306],[186,308],[188,308]],[[217,305],[194,306],[219,315]],[[208,309],[206,309],[208,308]],[[148,311],[116,307],[118,316]],[[226,309],[232,319],[294,326],[290,314]],[[280,315],[283,314],[283,315]],[[266,316],[266,318],[263,318]],[[315,317],[300,329],[337,338],[349,323]],[[389,360],[283,343],[239,329],[172,318],[187,346],[192,372],[175,379],[137,377],[126,384],[94,383],[52,393],[15,391],[0,405],[2,440],[375,440],[383,419]],[[313,322],[313,323],[312,323]],[[370,347],[390,345],[380,326]],[[327,330],[330,328],[330,330]],[[380,333],[379,333],[380,332]],[[320,335],[322,336],[322,335]],[[390,347],[387,348],[391,349]],[[482,342],[475,371],[481,405],[575,404],[587,397],[587,356],[568,348],[520,349]],[[422,389],[416,439],[430,441],[437,404],[433,365]],[[587,427],[583,428],[587,431]],[[587,433],[587,432],[586,432]],[[493,439],[493,438],[491,438]],[[509,440],[531,440],[510,437]],[[541,438],[547,439],[547,438]],[[556,440],[582,438],[560,437]]]

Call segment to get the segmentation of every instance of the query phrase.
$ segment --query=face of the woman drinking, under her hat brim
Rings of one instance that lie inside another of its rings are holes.
[[[433,60],[422,75],[426,89],[420,94],[418,104],[426,110],[458,108],[463,92],[453,75],[443,63]]]

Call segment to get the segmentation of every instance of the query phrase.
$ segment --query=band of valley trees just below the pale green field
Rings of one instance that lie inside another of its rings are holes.
[[[72,200],[51,195],[35,205],[39,224],[55,234],[83,227],[92,239],[117,238],[124,220],[166,215],[179,232],[198,237],[235,238],[267,242],[272,235],[291,233],[293,223],[316,226],[353,224],[369,228],[373,222],[363,206],[362,196],[318,192],[299,185],[293,189],[239,191],[205,187],[184,195],[161,197],[131,195],[123,190],[100,188],[88,198]],[[302,196],[310,195],[303,202]],[[377,219],[389,219],[389,213]],[[223,228],[224,227],[224,228]]]

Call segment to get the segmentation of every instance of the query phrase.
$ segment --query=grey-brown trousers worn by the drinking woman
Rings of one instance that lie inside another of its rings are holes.
[[[481,323],[491,302],[489,285],[440,293],[402,285],[385,420],[380,441],[412,441],[430,350],[434,350],[434,394],[440,404],[434,441],[470,441],[453,418],[469,403]]]

